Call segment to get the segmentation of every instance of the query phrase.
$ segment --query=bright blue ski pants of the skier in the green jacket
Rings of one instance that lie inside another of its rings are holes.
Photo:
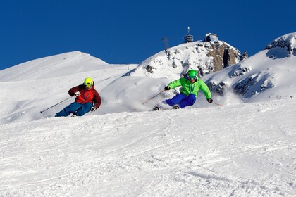
[[[197,98],[194,94],[189,94],[186,96],[185,94],[177,94],[171,99],[167,99],[166,103],[169,106],[175,106],[178,105],[180,108],[185,108],[187,106],[192,106]]]

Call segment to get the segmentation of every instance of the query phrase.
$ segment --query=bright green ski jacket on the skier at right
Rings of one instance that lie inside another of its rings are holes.
[[[185,94],[188,96],[189,94],[194,94],[195,97],[198,95],[199,89],[204,92],[204,95],[206,96],[206,99],[211,98],[211,91],[209,90],[209,87],[204,83],[203,80],[197,79],[193,84],[187,80],[185,77],[180,78],[179,80],[175,80],[168,84],[168,87],[171,89],[174,89],[175,87],[182,86],[182,89],[180,92],[182,94]]]

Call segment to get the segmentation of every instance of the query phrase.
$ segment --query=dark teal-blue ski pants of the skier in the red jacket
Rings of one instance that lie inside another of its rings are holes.
[[[77,116],[85,115],[85,113],[88,113],[90,109],[92,108],[92,103],[70,103],[69,106],[66,108],[63,108],[59,113],[56,113],[55,117],[61,117],[61,116],[68,116],[70,113],[75,113]]]

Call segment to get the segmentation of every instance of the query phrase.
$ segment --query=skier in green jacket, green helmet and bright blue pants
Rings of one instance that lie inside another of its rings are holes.
[[[182,86],[180,94],[175,95],[171,99],[167,99],[164,101],[164,103],[168,104],[169,106],[173,106],[175,109],[192,106],[197,99],[199,89],[204,92],[206,101],[209,103],[213,102],[213,99],[211,99],[211,91],[209,90],[209,87],[204,83],[204,81],[197,77],[196,70],[189,70],[185,77],[169,83],[168,86],[164,88],[164,90],[168,91],[180,86]],[[154,110],[160,110],[160,108],[161,106],[156,106]]]

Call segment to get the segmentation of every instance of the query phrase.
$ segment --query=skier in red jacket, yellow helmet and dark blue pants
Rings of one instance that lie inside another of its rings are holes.
[[[97,110],[101,105],[101,96],[94,89],[94,81],[90,77],[87,77],[83,84],[71,88],[68,93],[70,96],[76,96],[75,102],[56,113],[55,117],[68,116],[70,113],[73,113],[73,116],[82,116],[90,110]]]

